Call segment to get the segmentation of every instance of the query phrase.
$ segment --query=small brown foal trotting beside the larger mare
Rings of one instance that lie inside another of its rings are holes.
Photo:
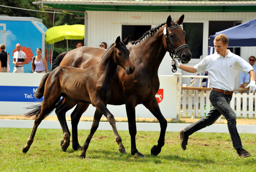
[[[121,153],[126,153],[122,144],[122,139],[116,129],[116,121],[106,107],[106,103],[110,100],[112,94],[112,84],[117,66],[120,65],[121,68],[124,68],[122,70],[126,74],[132,74],[134,72],[134,66],[129,60],[130,52],[126,48],[126,44],[128,44],[129,40],[130,36],[121,42],[120,36],[118,36],[115,44],[102,56],[99,64],[96,66],[86,69],[78,69],[71,66],[58,66],[51,73],[44,75],[41,84],[34,95],[36,98],[42,98],[42,96],[44,96],[42,105],[38,105],[37,108],[26,114],[26,116],[36,117],[27,144],[23,147],[24,153],[29,150],[33,143],[36,129],[40,122],[48,116],[54,108],[56,108],[56,114],[64,134],[62,150],[66,151],[70,144],[70,132],[68,128],[65,128],[67,125],[65,114],[78,102],[92,104],[101,114],[106,116],[114,130],[116,142],[120,146],[119,151]],[[60,100],[60,96],[63,97],[62,100]],[[82,158],[85,158],[90,140],[96,131],[93,129],[95,128],[94,125],[98,126],[97,122],[99,120],[97,118],[82,147],[80,155]]]

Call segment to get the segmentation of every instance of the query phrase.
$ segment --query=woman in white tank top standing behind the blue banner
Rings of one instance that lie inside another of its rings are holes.
[[[32,64],[31,64],[32,72],[33,73],[46,73],[46,72],[49,72],[48,71],[48,67],[47,67],[46,59],[41,56],[41,54],[42,54],[41,48],[36,48],[36,54],[37,54],[37,56],[35,56],[33,58],[33,61],[32,61]],[[34,68],[34,65],[35,65],[35,68]]]

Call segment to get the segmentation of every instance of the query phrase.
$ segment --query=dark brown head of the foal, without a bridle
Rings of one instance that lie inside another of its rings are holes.
[[[121,42],[120,36],[118,36],[114,44],[114,61],[117,65],[124,68],[124,70],[126,70],[126,74],[128,75],[132,74],[135,69],[129,59],[130,51],[126,48],[129,40],[130,36]]]

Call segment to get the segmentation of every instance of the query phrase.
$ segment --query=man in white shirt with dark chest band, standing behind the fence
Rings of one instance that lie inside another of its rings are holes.
[[[13,56],[14,69],[13,73],[24,73],[24,64],[28,64],[26,53],[21,50],[20,44],[16,44],[16,52]]]

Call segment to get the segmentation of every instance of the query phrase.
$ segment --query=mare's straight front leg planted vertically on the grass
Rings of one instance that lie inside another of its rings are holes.
[[[136,116],[135,116],[135,104],[134,100],[127,101],[126,102],[126,114],[128,118],[128,127],[129,127],[129,133],[131,136],[131,153],[132,155],[137,155],[139,157],[144,158],[145,155],[138,152],[138,149],[136,148],[136,134],[137,134],[137,128],[136,128]]]

